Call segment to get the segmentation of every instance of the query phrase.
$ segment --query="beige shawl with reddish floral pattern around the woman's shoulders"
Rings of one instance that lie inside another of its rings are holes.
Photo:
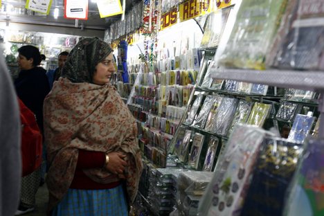
[[[134,201],[143,169],[136,121],[116,89],[60,78],[44,102],[44,132],[50,164],[46,183],[48,210],[65,195],[78,161],[78,150],[124,152],[127,155],[127,193]],[[111,183],[118,177],[104,168],[84,170],[93,181]]]

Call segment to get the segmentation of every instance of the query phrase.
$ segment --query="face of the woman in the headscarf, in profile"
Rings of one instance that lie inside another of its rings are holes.
[[[100,85],[109,83],[114,71],[114,56],[110,53],[105,57],[105,60],[97,64],[96,71],[93,73],[93,83]]]

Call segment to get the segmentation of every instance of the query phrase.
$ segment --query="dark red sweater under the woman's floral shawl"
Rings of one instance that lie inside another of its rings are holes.
[[[104,152],[90,152],[86,150],[79,150],[78,163],[74,173],[73,181],[70,188],[83,190],[102,190],[116,188],[120,181],[112,183],[98,183],[93,181],[82,170],[90,168],[102,168],[106,163],[106,156]]]

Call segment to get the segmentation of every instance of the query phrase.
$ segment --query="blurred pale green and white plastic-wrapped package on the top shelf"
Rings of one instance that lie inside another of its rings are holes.
[[[264,60],[285,9],[287,0],[244,0],[219,66],[265,69]]]

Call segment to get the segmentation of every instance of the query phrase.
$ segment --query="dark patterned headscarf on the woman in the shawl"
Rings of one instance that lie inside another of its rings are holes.
[[[84,38],[72,49],[62,69],[62,77],[71,82],[93,83],[96,65],[113,50],[98,37]]]

